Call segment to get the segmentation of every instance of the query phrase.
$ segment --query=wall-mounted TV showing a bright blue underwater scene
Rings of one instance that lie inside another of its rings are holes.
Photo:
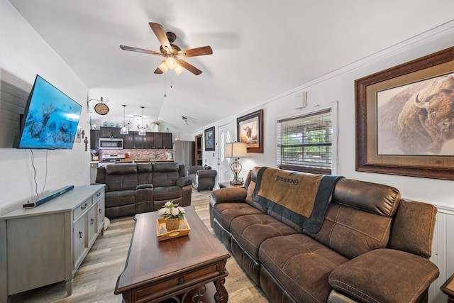
[[[13,148],[72,149],[82,106],[36,75]]]

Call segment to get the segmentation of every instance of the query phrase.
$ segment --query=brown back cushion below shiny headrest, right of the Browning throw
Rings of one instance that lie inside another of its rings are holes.
[[[318,233],[306,234],[347,258],[355,258],[376,248],[385,248],[392,218],[331,203]]]

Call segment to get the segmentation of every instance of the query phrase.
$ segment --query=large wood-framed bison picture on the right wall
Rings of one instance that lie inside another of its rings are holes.
[[[355,80],[356,170],[454,180],[454,47]]]

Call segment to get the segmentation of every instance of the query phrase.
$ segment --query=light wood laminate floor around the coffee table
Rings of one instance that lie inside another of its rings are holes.
[[[211,191],[192,191],[192,205],[204,224],[214,233],[210,226],[209,199]],[[74,276],[72,295],[67,296],[65,282],[41,287],[37,290],[22,292],[10,297],[11,302],[90,302],[121,303],[120,295],[114,294],[118,275],[123,271],[128,255],[129,243],[133,234],[133,217],[112,219],[104,236],[96,239],[87,258]],[[39,262],[39,260],[36,260]],[[226,290],[228,302],[268,302],[259,287],[245,275],[236,263],[235,258],[228,258],[226,268]]]

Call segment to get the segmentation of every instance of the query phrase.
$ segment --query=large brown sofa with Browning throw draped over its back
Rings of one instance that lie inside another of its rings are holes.
[[[342,178],[317,233],[259,204],[260,167],[210,201],[211,226],[270,302],[427,302],[436,208]],[[305,192],[301,192],[303,197]],[[254,197],[254,199],[253,199]]]

